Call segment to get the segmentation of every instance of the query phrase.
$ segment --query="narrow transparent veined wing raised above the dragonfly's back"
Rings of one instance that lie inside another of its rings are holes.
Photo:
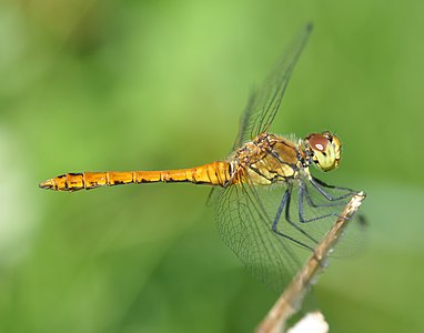
[[[312,31],[306,24],[276,63],[262,87],[254,90],[240,121],[240,131],[234,148],[250,141],[269,129],[279,111],[290,77]]]

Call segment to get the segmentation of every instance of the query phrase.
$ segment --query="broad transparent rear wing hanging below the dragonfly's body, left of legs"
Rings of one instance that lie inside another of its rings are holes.
[[[294,244],[271,230],[269,214],[273,212],[263,205],[267,199],[262,195],[263,190],[246,184],[218,189],[215,218],[223,241],[250,273],[280,292],[297,271],[300,262]]]

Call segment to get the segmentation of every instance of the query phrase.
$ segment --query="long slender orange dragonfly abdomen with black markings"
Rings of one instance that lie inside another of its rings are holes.
[[[231,179],[228,162],[212,162],[196,168],[161,171],[105,171],[65,173],[40,183],[41,189],[79,191],[131,183],[191,182],[223,186]]]

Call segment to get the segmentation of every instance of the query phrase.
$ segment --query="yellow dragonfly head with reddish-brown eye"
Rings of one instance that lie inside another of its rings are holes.
[[[312,133],[306,137],[306,151],[315,165],[322,171],[339,167],[342,143],[330,132]]]

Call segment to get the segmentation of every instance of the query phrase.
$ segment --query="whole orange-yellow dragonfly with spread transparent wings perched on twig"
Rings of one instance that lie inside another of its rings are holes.
[[[210,199],[215,203],[223,241],[255,278],[273,290],[283,290],[302,255],[313,251],[334,216],[357,193],[311,173],[312,165],[324,172],[339,167],[342,143],[334,133],[315,132],[296,139],[269,132],[311,31],[309,23],[251,93],[226,160],[178,170],[64,173],[39,186],[74,192],[130,183],[212,185]]]

